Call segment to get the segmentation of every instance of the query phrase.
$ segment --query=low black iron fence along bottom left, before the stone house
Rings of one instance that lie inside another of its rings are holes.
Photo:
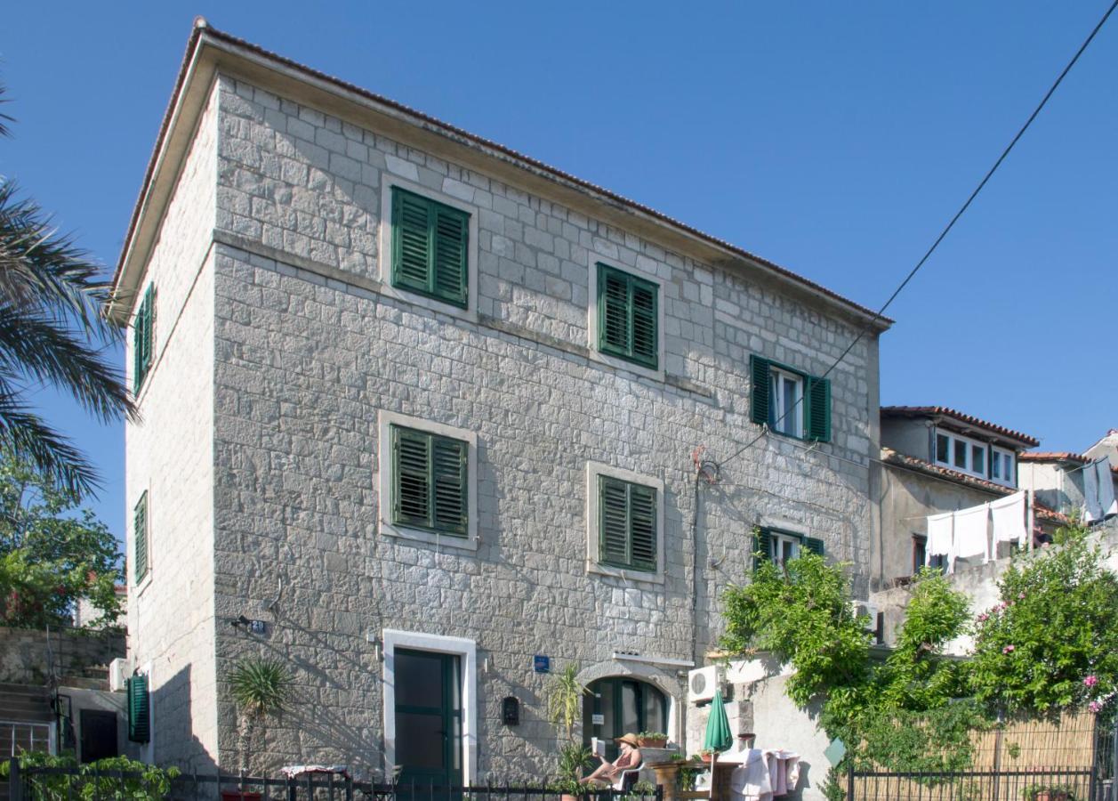
[[[570,797],[547,782],[539,784],[447,785],[434,782],[379,783],[333,773],[297,778],[183,773],[170,780],[140,772],[83,771],[80,767],[20,767],[9,763],[11,801],[561,801]],[[664,801],[664,789],[619,792],[586,789],[581,801]]]

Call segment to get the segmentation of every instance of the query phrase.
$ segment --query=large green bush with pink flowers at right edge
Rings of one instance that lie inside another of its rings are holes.
[[[1081,526],[1014,559],[999,603],[975,619],[969,684],[991,709],[1098,712],[1118,689],[1118,577]]]

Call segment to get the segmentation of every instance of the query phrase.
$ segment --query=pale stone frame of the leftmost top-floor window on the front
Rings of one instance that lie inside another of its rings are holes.
[[[406,178],[388,172],[380,173],[380,223],[377,226],[377,280],[380,282],[380,291],[390,298],[401,300],[413,305],[423,307],[432,311],[462,318],[471,322],[477,322],[477,218],[480,210],[477,206],[461,200],[446,192],[420,186]],[[398,187],[415,195],[419,195],[429,200],[435,200],[451,208],[456,208],[470,215],[468,236],[466,243],[466,308],[462,309],[453,303],[445,303],[435,298],[406,289],[392,286],[392,188]]]

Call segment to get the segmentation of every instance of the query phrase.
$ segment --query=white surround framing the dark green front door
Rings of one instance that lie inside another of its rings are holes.
[[[462,662],[462,784],[470,786],[477,775],[477,643],[463,637],[443,637],[417,631],[385,629],[385,767],[396,764],[396,649],[451,653]]]

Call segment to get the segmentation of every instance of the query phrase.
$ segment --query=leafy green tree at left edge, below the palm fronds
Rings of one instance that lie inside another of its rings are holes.
[[[0,454],[0,621],[65,625],[82,597],[115,621],[123,578],[116,539],[77,494]]]

